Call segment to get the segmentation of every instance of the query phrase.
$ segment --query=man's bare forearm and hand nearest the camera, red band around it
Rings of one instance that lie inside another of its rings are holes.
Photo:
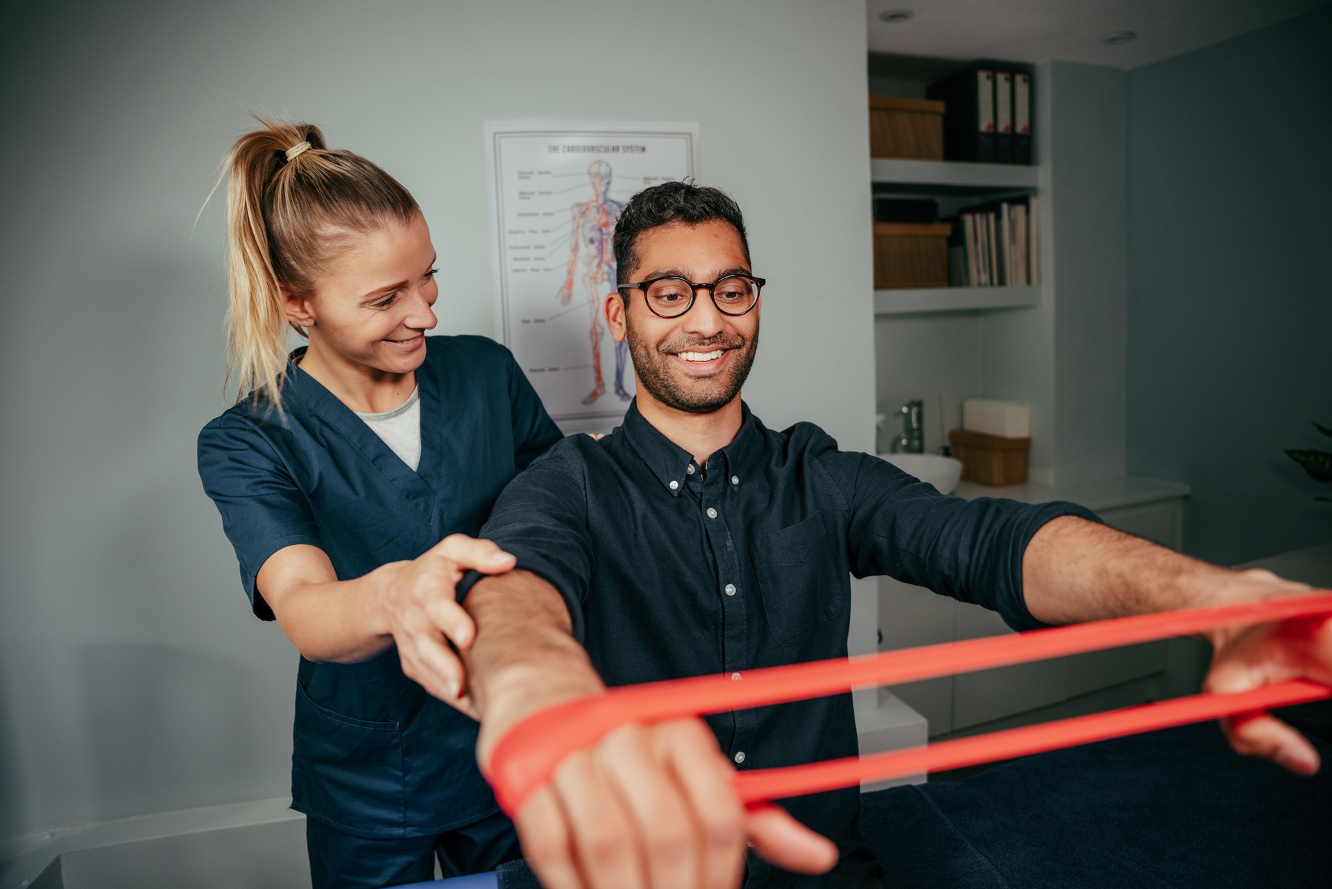
[[[476,641],[465,653],[488,772],[503,733],[527,714],[603,690],[558,590],[514,570],[472,588]],[[739,885],[746,837],[769,861],[818,873],[831,842],[779,809],[746,813],[734,772],[701,720],[623,725],[573,753],[514,818],[549,889],[722,889]]]

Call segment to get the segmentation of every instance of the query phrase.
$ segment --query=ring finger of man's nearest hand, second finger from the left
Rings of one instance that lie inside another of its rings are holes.
[[[591,752],[579,750],[555,769],[551,785],[571,830],[578,872],[589,889],[646,889],[633,816],[602,774]]]

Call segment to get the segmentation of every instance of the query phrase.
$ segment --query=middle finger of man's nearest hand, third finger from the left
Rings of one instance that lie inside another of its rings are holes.
[[[594,756],[633,814],[643,844],[647,885],[653,889],[698,885],[699,836],[673,776],[649,748],[647,730],[622,725],[597,745]]]

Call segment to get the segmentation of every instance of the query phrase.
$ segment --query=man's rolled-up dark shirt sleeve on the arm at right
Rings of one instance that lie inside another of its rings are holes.
[[[1100,521],[1071,502],[940,494],[867,453],[829,450],[821,462],[850,510],[847,544],[856,577],[887,574],[983,605],[1016,630],[1046,626],[1023,597],[1022,557],[1031,538],[1060,516]]]

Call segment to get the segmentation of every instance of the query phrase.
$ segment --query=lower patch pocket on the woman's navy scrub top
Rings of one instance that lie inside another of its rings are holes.
[[[357,720],[296,688],[292,806],[357,836],[404,836],[406,790],[398,722]],[[353,824],[346,824],[354,816]]]

